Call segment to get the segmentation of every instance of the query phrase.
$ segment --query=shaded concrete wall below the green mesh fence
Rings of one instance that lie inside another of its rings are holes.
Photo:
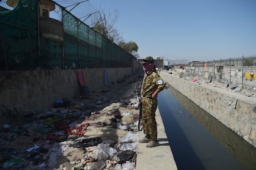
[[[132,74],[132,68],[81,69],[85,85],[93,91]],[[50,107],[56,99],[79,97],[76,70],[32,70],[0,72],[0,119],[6,107],[22,115]],[[4,106],[4,107],[2,107]],[[10,113],[10,114],[11,114]],[[9,113],[8,113],[9,114]]]

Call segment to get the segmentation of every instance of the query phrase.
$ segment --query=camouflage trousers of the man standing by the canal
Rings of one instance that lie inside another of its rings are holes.
[[[157,99],[143,97],[142,100],[142,123],[143,132],[146,136],[150,136],[152,140],[157,140],[157,129],[155,112],[157,108]]]

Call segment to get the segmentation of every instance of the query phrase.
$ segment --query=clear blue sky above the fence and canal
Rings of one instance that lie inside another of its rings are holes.
[[[81,1],[56,0],[64,7]],[[80,18],[97,10],[117,15],[114,29],[136,42],[141,59],[256,56],[255,0],[89,0],[70,12]]]

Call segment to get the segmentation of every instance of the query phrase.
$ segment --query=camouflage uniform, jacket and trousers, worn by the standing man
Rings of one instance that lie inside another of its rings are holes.
[[[143,132],[152,140],[157,140],[155,112],[158,101],[151,97],[156,89],[162,91],[164,89],[164,83],[156,71],[150,71],[144,76],[141,94]]]

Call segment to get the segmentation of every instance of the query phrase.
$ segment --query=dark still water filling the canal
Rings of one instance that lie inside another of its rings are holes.
[[[173,87],[158,95],[178,169],[256,169],[256,148]]]

